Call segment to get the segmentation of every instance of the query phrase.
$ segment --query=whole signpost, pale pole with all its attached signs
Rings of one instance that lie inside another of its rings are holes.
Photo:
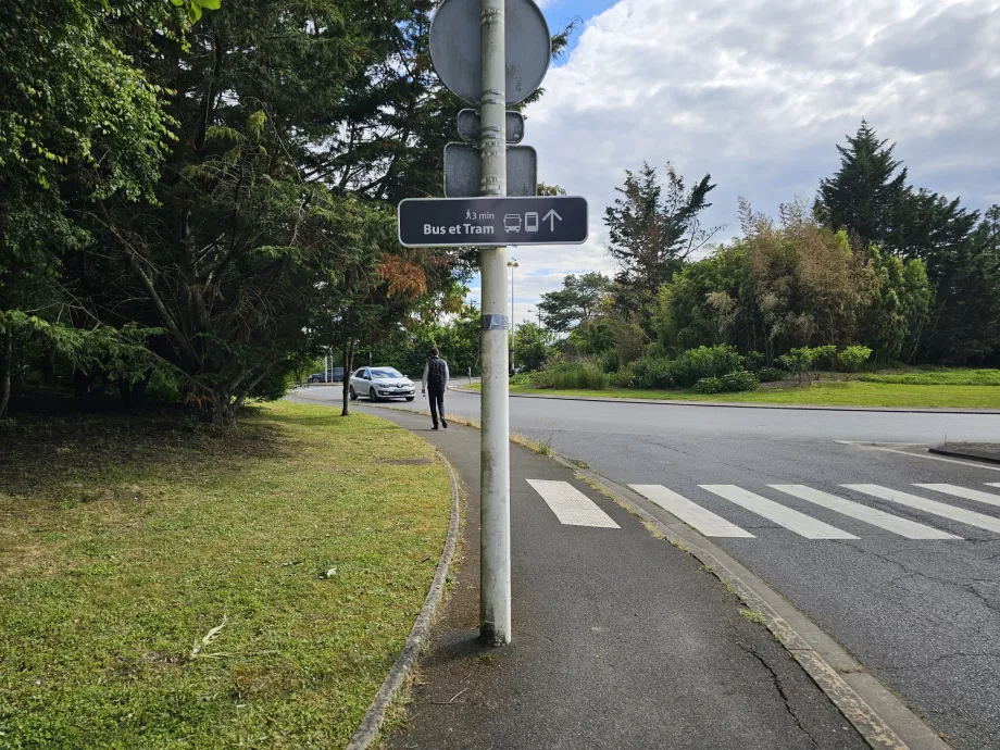
[[[524,120],[507,108],[538,89],[551,52],[549,26],[534,0],[443,0],[430,25],[430,60],[445,86],[478,107],[478,114],[459,115],[460,137],[476,146],[446,149],[448,198],[399,204],[403,245],[480,248],[479,637],[493,646],[511,641],[507,246],[587,239],[586,201],[536,196],[535,150],[508,146],[523,137]],[[509,157],[517,160],[514,175],[521,175],[514,185],[508,179]]]

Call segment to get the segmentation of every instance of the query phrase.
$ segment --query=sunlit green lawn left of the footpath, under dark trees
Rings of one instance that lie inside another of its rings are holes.
[[[343,747],[443,546],[432,459],[291,403],[3,428],[0,748]]]

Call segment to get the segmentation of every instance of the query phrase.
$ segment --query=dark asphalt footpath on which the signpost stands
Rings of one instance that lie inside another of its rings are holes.
[[[396,750],[868,747],[687,553],[551,460],[511,446],[514,641],[478,634],[479,434],[377,410],[437,445],[470,501],[458,586],[418,663]],[[620,528],[560,523],[527,479],[567,483]]]

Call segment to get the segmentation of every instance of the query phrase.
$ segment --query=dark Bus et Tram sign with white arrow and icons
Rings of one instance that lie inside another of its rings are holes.
[[[399,241],[408,248],[582,245],[587,201],[534,198],[407,198],[399,204]]]

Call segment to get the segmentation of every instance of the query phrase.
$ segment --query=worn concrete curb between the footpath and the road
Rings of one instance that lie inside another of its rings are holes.
[[[878,750],[950,750],[941,738],[887,687],[867,673],[839,643],[799,612],[737,560],[682,521],[665,524],[647,512],[640,496],[590,468],[563,457],[553,459],[575,470],[641,518],[650,530],[701,562],[749,609],[760,612],[766,627],[816,686],[872,747]]]

